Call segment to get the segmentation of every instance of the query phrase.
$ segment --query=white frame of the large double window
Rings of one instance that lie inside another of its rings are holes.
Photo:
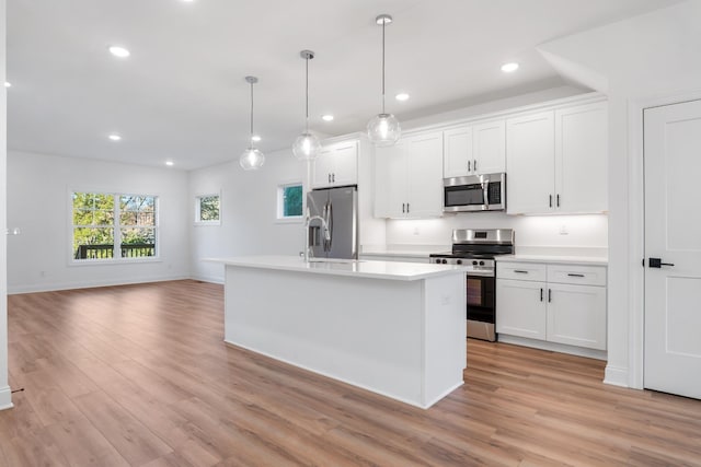
[[[114,224],[111,225],[111,229],[114,229],[114,250],[112,258],[100,258],[100,259],[76,259],[76,252],[73,250],[73,229],[76,224],[73,224],[73,194],[76,192],[87,192],[94,195],[108,195],[114,198]],[[139,257],[125,257],[123,258],[120,254],[117,254],[117,250],[122,249],[122,229],[126,227],[122,225],[120,222],[120,197],[123,196],[139,196],[139,197],[150,197],[153,198],[153,256],[139,256]],[[82,188],[69,188],[68,190],[68,265],[69,266],[95,266],[95,265],[117,265],[117,264],[136,264],[136,262],[161,262],[161,227],[160,227],[160,196],[158,194],[150,192],[136,192],[136,191],[118,191],[118,190],[106,190],[106,189],[82,189]]]

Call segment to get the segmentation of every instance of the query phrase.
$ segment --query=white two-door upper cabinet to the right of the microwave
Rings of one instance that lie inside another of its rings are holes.
[[[598,102],[509,118],[507,212],[605,211],[607,116],[606,102]]]

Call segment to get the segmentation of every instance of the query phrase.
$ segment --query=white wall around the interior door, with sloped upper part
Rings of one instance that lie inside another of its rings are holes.
[[[608,87],[610,255],[606,381],[612,384],[643,384],[642,108],[701,97],[700,17],[701,2],[691,0],[542,46],[548,55],[575,62],[590,75],[605,77],[600,85]]]

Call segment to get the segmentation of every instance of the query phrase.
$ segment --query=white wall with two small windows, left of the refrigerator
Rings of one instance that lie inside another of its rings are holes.
[[[223,266],[204,258],[242,255],[297,255],[302,250],[301,221],[277,220],[277,187],[301,182],[307,186],[307,164],[290,150],[265,154],[265,165],[245,172],[238,154],[232,162],[189,173],[187,210],[191,232],[192,277],[222,282]],[[194,225],[195,197],[221,192],[221,225]]]

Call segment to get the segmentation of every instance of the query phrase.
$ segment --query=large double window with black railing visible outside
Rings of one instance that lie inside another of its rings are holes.
[[[147,195],[72,192],[72,258],[156,257],[157,201]]]

